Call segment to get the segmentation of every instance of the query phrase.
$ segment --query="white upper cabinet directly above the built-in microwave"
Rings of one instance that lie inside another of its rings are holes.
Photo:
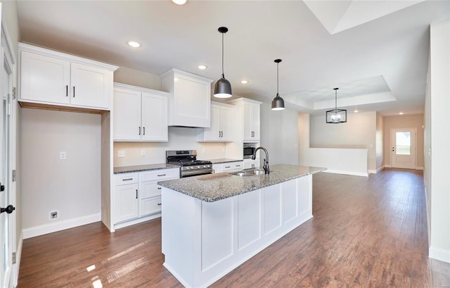
[[[261,102],[238,98],[228,101],[227,103],[233,104],[236,108],[236,125],[235,134],[239,139],[234,141],[243,142],[259,142],[260,139],[260,113],[259,106]]]

